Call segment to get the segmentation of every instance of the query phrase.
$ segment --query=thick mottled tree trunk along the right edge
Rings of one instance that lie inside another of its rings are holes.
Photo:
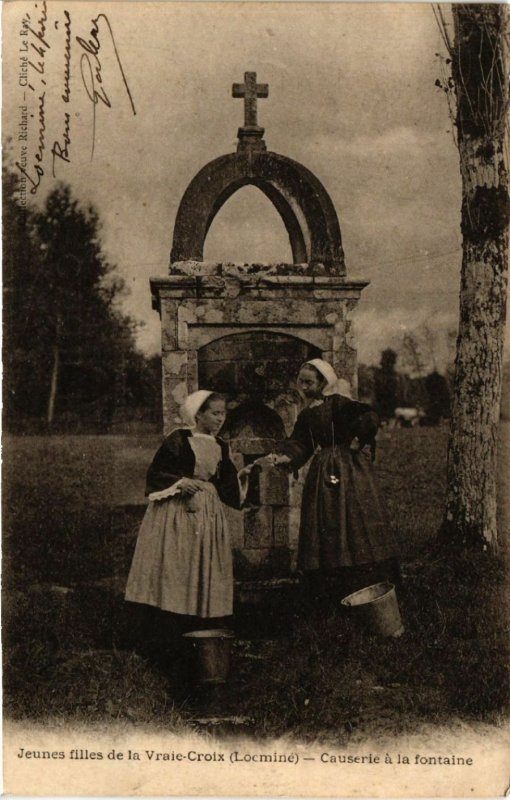
[[[508,277],[504,5],[453,5],[462,176],[460,320],[440,541],[496,550],[496,443]]]

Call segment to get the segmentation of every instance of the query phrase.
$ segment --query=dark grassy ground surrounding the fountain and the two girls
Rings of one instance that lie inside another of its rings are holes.
[[[257,737],[292,733],[339,744],[452,717],[504,718],[503,561],[427,554],[444,500],[444,428],[383,432],[379,445],[380,480],[404,552],[404,636],[367,635],[327,596],[310,607],[299,595],[280,595],[240,610],[232,679],[207,697],[172,679],[169,654],[166,662],[164,653],[154,657],[146,620],[121,599],[136,520],[112,515],[111,498],[115,486],[133,483],[135,463],[143,479],[156,441],[6,439],[7,717],[181,732],[207,712],[244,718],[243,732]]]

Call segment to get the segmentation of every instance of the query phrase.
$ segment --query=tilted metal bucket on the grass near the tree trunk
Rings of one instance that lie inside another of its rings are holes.
[[[352,608],[372,633],[394,638],[404,633],[395,586],[392,583],[366,586],[344,597],[342,605]]]

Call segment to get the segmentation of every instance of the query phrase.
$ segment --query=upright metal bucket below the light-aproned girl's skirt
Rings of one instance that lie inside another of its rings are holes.
[[[190,631],[183,638],[191,645],[196,683],[225,683],[230,672],[232,631],[224,628]]]

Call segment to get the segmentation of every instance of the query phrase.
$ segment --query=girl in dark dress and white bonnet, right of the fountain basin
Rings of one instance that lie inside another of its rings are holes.
[[[294,471],[311,459],[298,568],[314,591],[328,574],[345,594],[380,580],[398,582],[398,546],[373,469],[377,415],[350,398],[348,384],[322,359],[303,364],[298,386],[307,406],[279,454],[269,457]]]

